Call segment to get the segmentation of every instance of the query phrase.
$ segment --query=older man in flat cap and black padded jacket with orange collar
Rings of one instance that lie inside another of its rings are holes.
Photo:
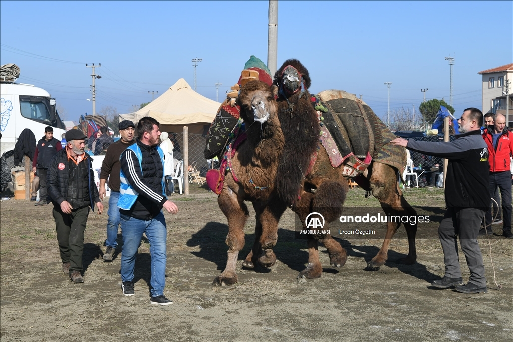
[[[96,204],[98,214],[103,211],[91,158],[84,153],[85,139],[82,131],[67,131],[66,147],[52,157],[47,173],[62,268],[74,284],[84,283],[82,253],[89,207],[94,211]]]

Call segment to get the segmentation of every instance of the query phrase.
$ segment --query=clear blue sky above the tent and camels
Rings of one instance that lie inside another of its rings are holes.
[[[0,2],[0,63],[21,68],[19,82],[48,90],[67,119],[91,113],[91,68],[96,111],[118,113],[151,100],[184,77],[198,92],[222,100],[254,54],[267,61],[268,2]],[[513,2],[279,1],[278,66],[298,58],[311,92],[342,89],[379,116],[390,108],[418,108],[426,97],[449,102],[456,58],[454,107],[481,108],[479,71],[513,62]],[[20,51],[21,50],[21,51]],[[61,59],[61,62],[56,59]]]

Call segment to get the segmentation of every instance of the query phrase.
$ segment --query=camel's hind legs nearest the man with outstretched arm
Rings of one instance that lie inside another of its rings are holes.
[[[417,212],[406,202],[401,189],[399,189],[397,171],[395,169],[385,164],[373,163],[369,183],[372,195],[378,198],[381,207],[387,215],[417,216]],[[411,265],[417,260],[415,246],[417,224],[407,223],[404,226],[408,236],[409,251],[408,256],[403,259],[403,263]],[[399,223],[387,223],[385,240],[378,254],[369,261],[368,266],[370,268],[378,268],[385,264],[388,259],[390,241],[398,228]]]

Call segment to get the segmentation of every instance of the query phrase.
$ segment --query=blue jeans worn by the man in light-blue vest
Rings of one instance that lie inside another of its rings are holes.
[[[150,242],[151,279],[150,294],[152,297],[164,295],[166,286],[166,239],[167,227],[164,214],[155,218],[142,220],[127,215],[121,217],[121,233],[123,235],[123,251],[121,253],[121,280],[133,281],[135,257],[141,244],[143,233]]]

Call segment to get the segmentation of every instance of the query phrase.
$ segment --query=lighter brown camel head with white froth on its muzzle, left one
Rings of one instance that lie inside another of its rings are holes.
[[[241,106],[241,116],[247,125],[253,122],[263,125],[274,118],[277,113],[275,91],[276,87],[269,87],[261,81],[250,81],[242,87],[237,101]]]

